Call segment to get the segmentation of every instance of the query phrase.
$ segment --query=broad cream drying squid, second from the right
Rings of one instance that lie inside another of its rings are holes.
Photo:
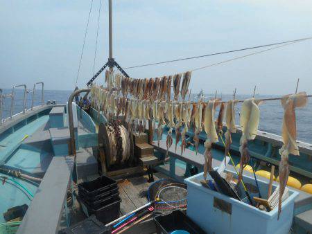
[[[260,103],[261,100],[250,98],[244,100],[241,107],[240,125],[243,134],[240,140],[241,146],[239,147],[239,152],[241,153],[241,161],[239,164],[239,182],[241,182],[243,176],[243,168],[245,168],[250,160],[248,141],[254,140],[254,138],[257,136],[260,119],[260,110],[258,105]]]

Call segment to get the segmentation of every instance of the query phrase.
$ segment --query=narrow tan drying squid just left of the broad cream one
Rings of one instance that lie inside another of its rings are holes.
[[[225,132],[225,156],[229,155],[229,148],[232,144],[231,134],[236,132],[235,103],[235,100],[229,100],[225,110],[225,123],[227,125],[227,132]]]

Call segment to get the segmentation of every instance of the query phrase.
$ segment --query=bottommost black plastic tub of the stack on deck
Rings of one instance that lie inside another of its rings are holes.
[[[101,208],[94,209],[90,207],[85,201],[78,199],[80,203],[80,208],[85,213],[87,217],[90,215],[95,215],[96,219],[103,222],[103,224],[108,224],[114,219],[118,219],[120,215],[120,203],[121,199],[119,196],[111,197],[107,201],[107,205],[102,206]]]

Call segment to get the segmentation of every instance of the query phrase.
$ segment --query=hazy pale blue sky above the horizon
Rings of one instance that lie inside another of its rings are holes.
[[[44,81],[73,89],[91,1],[0,1],[0,88]],[[94,0],[78,86],[92,77],[99,0]],[[171,60],[312,36],[312,1],[113,0],[114,57],[121,66]],[[108,56],[102,1],[96,69]],[[257,51],[257,50],[255,50]],[[252,51],[250,51],[252,52]],[[249,51],[129,69],[133,78],[188,71]],[[312,93],[312,40],[193,73],[192,92]],[[98,78],[103,82],[103,78]]]

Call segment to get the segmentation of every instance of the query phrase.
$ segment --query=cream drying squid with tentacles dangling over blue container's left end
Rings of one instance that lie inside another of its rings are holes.
[[[209,100],[205,109],[204,129],[207,134],[207,140],[205,141],[205,163],[204,163],[204,179],[207,178],[207,172],[212,170],[212,155],[211,147],[212,143],[218,142],[218,134],[216,132],[216,123],[214,120],[214,111],[220,104],[218,100]]]

